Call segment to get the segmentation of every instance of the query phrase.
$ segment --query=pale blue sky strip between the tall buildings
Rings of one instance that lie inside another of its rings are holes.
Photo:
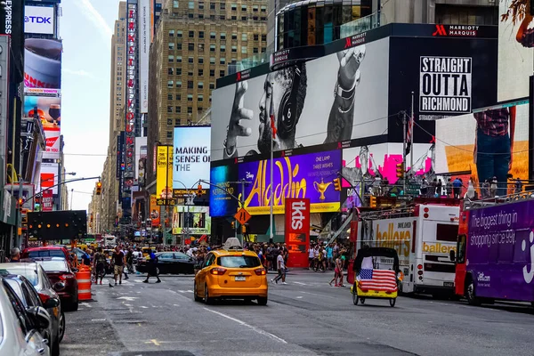
[[[109,143],[111,35],[119,0],[63,0],[61,134],[67,179],[100,176]],[[68,183],[69,204],[85,210],[97,180]],[[71,191],[72,190],[72,191]]]

